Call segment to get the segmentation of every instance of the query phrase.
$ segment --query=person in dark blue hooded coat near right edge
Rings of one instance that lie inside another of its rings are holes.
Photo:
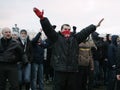
[[[115,90],[116,83],[116,60],[117,60],[117,43],[118,35],[112,35],[111,44],[108,46],[108,85],[107,90]]]

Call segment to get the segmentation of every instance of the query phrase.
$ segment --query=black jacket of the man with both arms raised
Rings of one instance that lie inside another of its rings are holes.
[[[43,31],[53,43],[51,64],[54,70],[62,72],[78,71],[79,43],[85,40],[90,33],[94,32],[96,27],[90,25],[66,40],[66,38],[52,28],[47,18],[40,22]]]

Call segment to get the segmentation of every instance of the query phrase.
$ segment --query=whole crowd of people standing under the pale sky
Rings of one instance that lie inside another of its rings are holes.
[[[44,90],[50,80],[53,90],[94,90],[100,85],[106,90],[120,89],[120,40],[118,35],[99,36],[96,29],[104,19],[80,32],[69,24],[57,32],[43,11],[33,11],[42,29],[32,40],[26,29],[18,34],[2,28],[0,90],[6,90],[7,80],[10,90]]]

